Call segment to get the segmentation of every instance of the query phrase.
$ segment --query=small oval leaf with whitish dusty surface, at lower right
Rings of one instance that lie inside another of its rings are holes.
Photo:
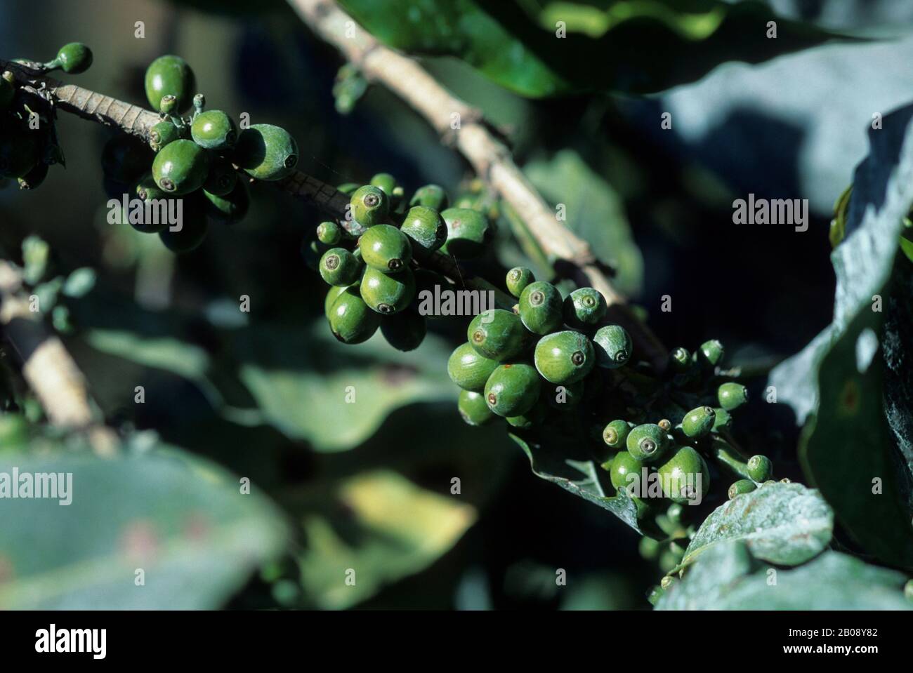
[[[729,540],[744,541],[756,558],[803,564],[831,541],[834,513],[821,495],[798,483],[771,483],[720,505],[687,545],[682,565]]]

